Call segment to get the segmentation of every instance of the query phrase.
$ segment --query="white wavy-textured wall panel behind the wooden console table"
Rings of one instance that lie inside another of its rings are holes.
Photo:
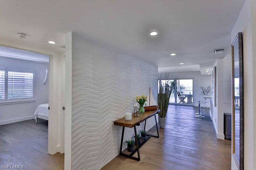
[[[151,64],[72,33],[72,169],[100,169],[118,155],[122,127],[113,121],[149,87],[156,98],[156,74]],[[146,129],[154,124],[152,117]],[[124,133],[125,141],[134,130]]]

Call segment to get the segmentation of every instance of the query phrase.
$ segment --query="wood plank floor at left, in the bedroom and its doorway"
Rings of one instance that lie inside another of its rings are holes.
[[[64,154],[47,153],[48,121],[38,119],[0,126],[0,166],[23,165],[28,170],[62,170]],[[1,167],[0,167],[1,168]]]

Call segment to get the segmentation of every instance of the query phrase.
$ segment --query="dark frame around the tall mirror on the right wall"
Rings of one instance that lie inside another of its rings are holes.
[[[239,57],[239,112],[240,112],[240,162],[236,158],[235,153],[235,62],[234,62],[234,45],[238,43],[238,57]],[[244,169],[244,89],[243,89],[243,41],[242,33],[238,33],[236,38],[232,42],[232,155],[235,159],[236,166],[240,169]]]

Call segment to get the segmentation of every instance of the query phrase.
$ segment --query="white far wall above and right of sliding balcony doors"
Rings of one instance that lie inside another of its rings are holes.
[[[186,79],[186,78],[192,78],[194,79],[194,98],[197,100],[203,100],[203,95],[201,94],[200,86],[207,87],[208,85],[211,86],[211,76],[209,75],[201,75],[200,71],[189,71],[189,72],[170,72],[169,73],[169,79]],[[197,106],[194,104],[194,106]],[[206,107],[210,107],[210,99],[207,99],[207,103],[205,105]]]

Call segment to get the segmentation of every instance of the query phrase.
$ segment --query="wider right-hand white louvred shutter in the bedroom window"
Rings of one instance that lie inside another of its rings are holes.
[[[8,99],[34,97],[34,73],[8,71]]]

